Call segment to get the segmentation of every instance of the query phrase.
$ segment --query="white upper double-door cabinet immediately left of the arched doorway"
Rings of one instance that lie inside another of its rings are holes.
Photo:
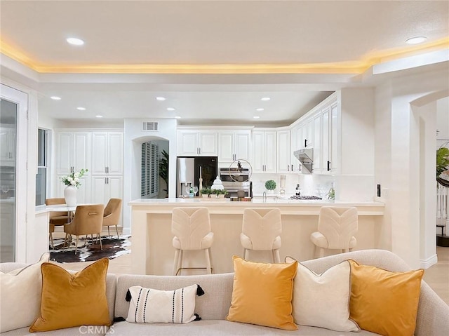
[[[123,174],[123,132],[92,133],[93,175]]]

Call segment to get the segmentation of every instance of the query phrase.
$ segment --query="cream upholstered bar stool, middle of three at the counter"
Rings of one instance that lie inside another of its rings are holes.
[[[278,208],[246,208],[240,234],[243,258],[248,250],[271,250],[273,262],[281,262],[281,210]]]

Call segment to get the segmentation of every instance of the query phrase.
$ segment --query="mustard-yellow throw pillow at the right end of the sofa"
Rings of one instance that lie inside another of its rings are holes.
[[[424,271],[392,272],[349,262],[351,318],[360,328],[380,335],[412,336]]]

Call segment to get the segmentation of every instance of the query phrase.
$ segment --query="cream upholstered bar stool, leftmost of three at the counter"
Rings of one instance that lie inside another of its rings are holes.
[[[213,243],[213,232],[210,231],[208,208],[173,208],[171,232],[175,235],[173,275],[177,275],[182,269],[206,269],[208,274],[212,274],[210,246]],[[204,250],[206,267],[182,267],[185,250]]]

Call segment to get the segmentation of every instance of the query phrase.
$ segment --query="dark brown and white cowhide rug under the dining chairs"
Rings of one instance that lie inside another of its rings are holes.
[[[104,257],[114,259],[131,253],[131,250],[126,248],[126,246],[131,245],[129,238],[130,236],[121,236],[119,239],[114,238],[114,236],[112,238],[102,236],[103,250],[100,249],[100,243],[95,243],[95,239],[92,243],[90,238],[87,241],[80,238],[76,255],[74,243],[69,248],[62,248],[64,239],[55,239],[55,249],[50,250],[50,260],[55,262],[93,262]],[[83,246],[85,242],[87,245]]]

